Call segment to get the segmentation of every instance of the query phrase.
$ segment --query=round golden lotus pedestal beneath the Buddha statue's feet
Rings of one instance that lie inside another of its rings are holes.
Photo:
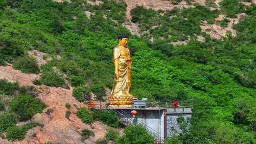
[[[133,96],[108,97],[108,107],[132,107]]]

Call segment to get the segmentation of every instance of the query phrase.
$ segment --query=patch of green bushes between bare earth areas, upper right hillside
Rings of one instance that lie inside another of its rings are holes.
[[[131,21],[139,23],[141,32],[148,31],[144,37],[161,37],[161,39],[164,38],[171,42],[186,40],[188,36],[199,35],[201,33],[201,21],[206,20],[209,24],[213,24],[219,11],[196,5],[195,8],[168,10],[164,16],[161,16],[153,9],[137,6],[131,10],[131,15]]]

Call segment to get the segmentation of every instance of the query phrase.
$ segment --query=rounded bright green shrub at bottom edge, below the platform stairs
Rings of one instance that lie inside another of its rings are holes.
[[[154,137],[143,126],[130,125],[125,128],[124,135],[118,138],[117,144],[154,144]]]

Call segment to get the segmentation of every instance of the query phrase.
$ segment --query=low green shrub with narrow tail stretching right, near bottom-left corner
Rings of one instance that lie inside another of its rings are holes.
[[[11,141],[23,140],[26,137],[27,130],[35,127],[43,126],[37,122],[30,122],[23,126],[11,126],[6,130],[6,138]]]

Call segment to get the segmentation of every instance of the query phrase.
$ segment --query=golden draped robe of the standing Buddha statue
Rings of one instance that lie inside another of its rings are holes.
[[[118,74],[117,79],[116,73],[114,76],[114,86],[111,91],[111,96],[114,97],[126,97],[129,95],[129,90],[131,86],[131,61],[128,60],[130,52],[128,49],[128,55],[121,56],[122,48],[118,45],[113,49],[113,62],[119,59]]]

